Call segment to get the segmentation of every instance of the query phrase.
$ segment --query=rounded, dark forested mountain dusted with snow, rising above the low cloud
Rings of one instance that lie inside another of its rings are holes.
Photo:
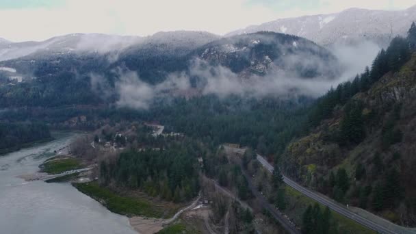
[[[205,44],[193,54],[241,77],[290,73],[294,77],[330,78],[339,75],[340,69],[335,56],[323,47],[298,36],[274,32],[222,38]]]

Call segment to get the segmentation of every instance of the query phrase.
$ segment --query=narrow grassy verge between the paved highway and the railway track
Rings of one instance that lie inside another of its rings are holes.
[[[296,204],[296,208],[298,209],[298,218],[297,220],[301,220],[302,214],[304,210],[307,209],[309,205],[315,205],[315,200],[304,196],[297,190],[294,190],[290,186],[285,186],[287,202],[291,203],[290,206],[294,206]],[[324,205],[320,204],[321,209],[325,209]],[[301,213],[300,213],[301,211]],[[350,218],[346,218],[341,214],[331,210],[331,217],[335,220],[338,224],[339,230],[342,230],[344,233],[365,233],[365,234],[375,234],[376,231],[368,229],[367,227],[351,220]],[[300,221],[301,222],[301,221]]]

